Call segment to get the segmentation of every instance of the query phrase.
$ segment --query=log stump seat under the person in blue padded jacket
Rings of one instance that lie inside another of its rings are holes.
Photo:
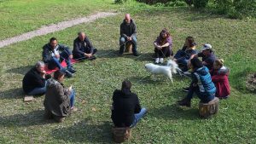
[[[209,101],[208,103],[199,103],[199,115],[202,118],[208,118],[212,114],[215,114],[218,112],[218,97],[215,97],[212,101]]]

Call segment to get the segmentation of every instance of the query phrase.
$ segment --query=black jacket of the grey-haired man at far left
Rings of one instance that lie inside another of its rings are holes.
[[[30,93],[32,89],[43,88],[45,85],[45,78],[41,77],[40,72],[33,67],[30,71],[26,72],[22,80],[22,88],[26,94]]]

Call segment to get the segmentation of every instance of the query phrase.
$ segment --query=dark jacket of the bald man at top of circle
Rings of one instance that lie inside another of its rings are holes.
[[[121,37],[137,37],[137,26],[133,20],[131,20],[130,24],[127,24],[125,20],[120,25],[120,36]]]

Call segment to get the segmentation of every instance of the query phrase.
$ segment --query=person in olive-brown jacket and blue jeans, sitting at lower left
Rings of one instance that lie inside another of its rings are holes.
[[[76,111],[75,91],[72,87],[66,89],[61,83],[65,74],[65,70],[58,70],[54,73],[54,78],[47,81],[44,99],[44,117],[54,118],[59,123],[63,122],[71,111]]]

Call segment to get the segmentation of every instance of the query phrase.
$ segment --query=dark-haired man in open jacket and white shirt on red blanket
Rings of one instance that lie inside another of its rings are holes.
[[[51,37],[49,43],[43,47],[44,63],[48,65],[50,70],[55,69],[55,67],[61,70],[63,69],[61,62],[65,60],[67,63],[67,77],[72,77],[73,72],[76,72],[71,64],[71,59],[73,59],[73,55],[69,48],[66,45],[59,44],[55,37]]]

